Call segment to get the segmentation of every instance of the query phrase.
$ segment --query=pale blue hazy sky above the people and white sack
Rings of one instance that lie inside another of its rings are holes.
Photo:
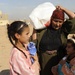
[[[31,11],[44,2],[61,5],[75,12],[75,0],[0,0],[0,10],[8,14],[9,19],[28,19]]]

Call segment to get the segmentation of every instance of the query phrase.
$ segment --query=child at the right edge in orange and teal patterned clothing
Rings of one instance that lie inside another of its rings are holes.
[[[52,67],[53,75],[75,75],[75,34],[69,34],[67,40],[67,55]]]

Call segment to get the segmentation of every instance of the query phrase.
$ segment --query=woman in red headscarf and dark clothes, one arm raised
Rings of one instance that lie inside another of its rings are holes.
[[[66,13],[70,19],[74,19],[75,17],[73,12],[57,6],[52,14],[49,27],[36,30],[37,37],[33,38],[37,40],[42,75],[52,75],[50,70],[52,66],[58,63],[57,57],[55,57],[57,50],[66,42],[66,37],[72,30],[72,25],[66,25],[69,23],[68,21],[64,22],[64,13]],[[56,62],[55,59],[57,60]]]

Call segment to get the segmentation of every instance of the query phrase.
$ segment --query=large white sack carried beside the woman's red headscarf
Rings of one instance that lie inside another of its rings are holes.
[[[46,23],[50,21],[55,6],[50,2],[38,5],[29,15],[35,29],[43,29]]]

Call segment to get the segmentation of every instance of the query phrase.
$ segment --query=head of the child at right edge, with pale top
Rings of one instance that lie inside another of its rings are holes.
[[[66,50],[68,55],[75,53],[75,36],[73,34],[68,35]]]

